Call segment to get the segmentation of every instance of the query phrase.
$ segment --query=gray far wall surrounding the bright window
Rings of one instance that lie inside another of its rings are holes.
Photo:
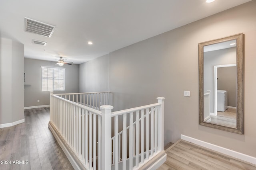
[[[24,86],[24,106],[42,106],[50,104],[50,93],[42,92],[41,89],[41,66],[52,66],[59,67],[55,65],[56,62],[43,61],[35,59],[25,58],[25,84],[30,84],[31,86]],[[77,93],[79,92],[79,65],[65,64],[65,90],[64,91],[54,91],[57,93]],[[40,100],[40,102],[37,102]]]

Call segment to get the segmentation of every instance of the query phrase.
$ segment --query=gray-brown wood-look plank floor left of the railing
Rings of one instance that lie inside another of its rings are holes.
[[[0,129],[0,170],[73,170],[48,129],[49,107],[24,112],[24,123]]]

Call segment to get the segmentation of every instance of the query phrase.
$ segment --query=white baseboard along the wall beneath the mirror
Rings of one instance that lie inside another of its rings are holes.
[[[238,158],[240,160],[243,160],[243,161],[246,161],[246,162],[249,162],[251,164],[256,165],[256,158],[255,157],[252,157],[252,156],[240,153],[240,152],[236,152],[234,150],[226,149],[226,148],[220,147],[218,145],[213,145],[211,143],[200,141],[198,139],[188,137],[188,136],[185,136],[185,135],[180,135],[180,137],[184,141],[188,141],[188,142],[194,143],[196,145],[200,145],[202,147],[206,147],[208,149],[212,149],[212,150],[215,150],[217,152],[220,152],[220,153],[226,154],[228,156],[232,156],[234,158]]]

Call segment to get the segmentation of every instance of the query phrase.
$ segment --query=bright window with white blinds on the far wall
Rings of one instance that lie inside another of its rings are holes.
[[[42,91],[65,90],[65,68],[42,66]]]

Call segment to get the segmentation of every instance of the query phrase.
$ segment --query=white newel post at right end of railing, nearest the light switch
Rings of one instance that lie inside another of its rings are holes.
[[[158,150],[164,150],[164,99],[162,97],[156,98],[161,104],[158,110]]]

